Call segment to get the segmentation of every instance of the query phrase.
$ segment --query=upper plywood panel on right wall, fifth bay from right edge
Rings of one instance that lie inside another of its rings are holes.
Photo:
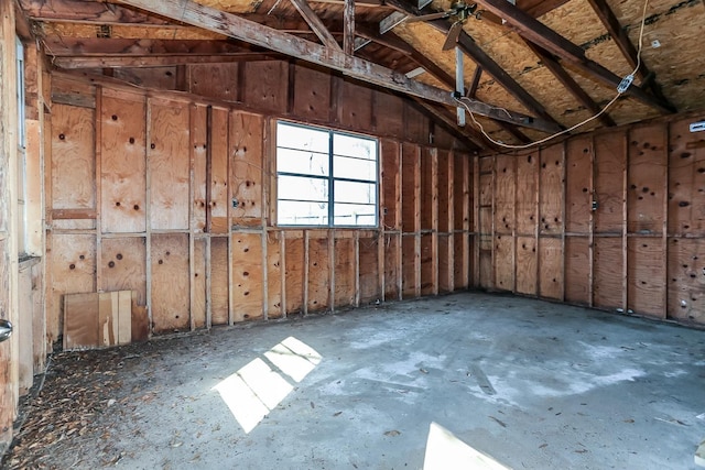
[[[563,232],[563,143],[541,150],[539,231],[541,234]]]

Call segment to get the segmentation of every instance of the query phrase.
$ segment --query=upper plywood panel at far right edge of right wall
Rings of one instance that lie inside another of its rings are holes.
[[[705,236],[705,138],[690,132],[692,119],[671,123],[669,233]]]

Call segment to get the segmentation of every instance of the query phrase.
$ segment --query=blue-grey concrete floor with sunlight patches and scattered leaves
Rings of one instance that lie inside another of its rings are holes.
[[[694,469],[705,331],[463,293],[58,354],[25,407],[9,468]]]

